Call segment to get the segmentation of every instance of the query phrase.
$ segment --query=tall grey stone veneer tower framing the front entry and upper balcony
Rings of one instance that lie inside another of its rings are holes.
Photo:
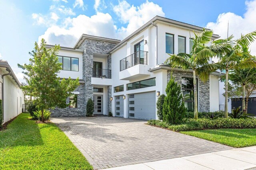
[[[112,49],[116,43],[110,43],[106,41],[100,41],[95,39],[84,39],[79,49],[83,49],[83,79],[85,80],[85,94],[84,94],[84,105],[86,106],[87,101],[93,99],[93,86],[91,84],[92,68],[93,68],[93,53],[107,54],[107,51]],[[108,69],[111,69],[111,55],[108,56]],[[110,89],[110,90],[109,90]],[[111,97],[111,86],[108,86],[108,98]],[[111,108],[110,99],[108,99],[108,111]],[[86,112],[86,110],[85,110]]]

